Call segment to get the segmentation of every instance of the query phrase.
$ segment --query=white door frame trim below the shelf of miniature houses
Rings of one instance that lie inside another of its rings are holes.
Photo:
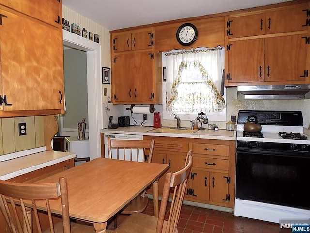
[[[62,30],[63,45],[86,52],[87,98],[90,158],[101,157],[100,132],[103,128],[102,84],[101,84],[101,46],[74,33]],[[62,126],[60,126],[62,127]]]

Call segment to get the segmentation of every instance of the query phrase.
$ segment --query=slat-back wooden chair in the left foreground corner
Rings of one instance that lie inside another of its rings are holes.
[[[60,198],[62,203],[62,221],[53,225],[49,200],[57,198]],[[0,180],[0,209],[12,233],[42,233],[37,201],[47,203],[49,229],[45,233],[95,233],[93,226],[70,224],[66,178],[61,177],[59,182],[55,183],[36,184]],[[35,218],[37,228],[34,231],[32,231],[32,216]]]

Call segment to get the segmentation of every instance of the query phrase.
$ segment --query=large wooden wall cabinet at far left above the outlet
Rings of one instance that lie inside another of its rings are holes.
[[[27,0],[1,4],[0,117],[61,113],[63,48],[58,18],[62,17],[62,2]]]

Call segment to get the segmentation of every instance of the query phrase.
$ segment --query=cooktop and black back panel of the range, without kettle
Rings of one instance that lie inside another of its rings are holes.
[[[260,132],[245,132],[247,118],[255,115],[261,124]],[[237,147],[270,148],[310,152],[310,136],[303,133],[300,111],[240,110],[237,121]]]

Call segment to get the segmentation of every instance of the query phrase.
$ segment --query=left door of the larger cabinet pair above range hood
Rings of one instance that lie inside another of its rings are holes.
[[[264,39],[241,40],[228,45],[226,82],[261,82],[264,74]]]

